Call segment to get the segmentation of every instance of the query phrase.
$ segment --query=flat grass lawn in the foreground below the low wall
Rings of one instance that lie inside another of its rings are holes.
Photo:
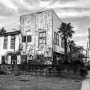
[[[31,75],[0,75],[0,90],[80,90],[81,80]]]

